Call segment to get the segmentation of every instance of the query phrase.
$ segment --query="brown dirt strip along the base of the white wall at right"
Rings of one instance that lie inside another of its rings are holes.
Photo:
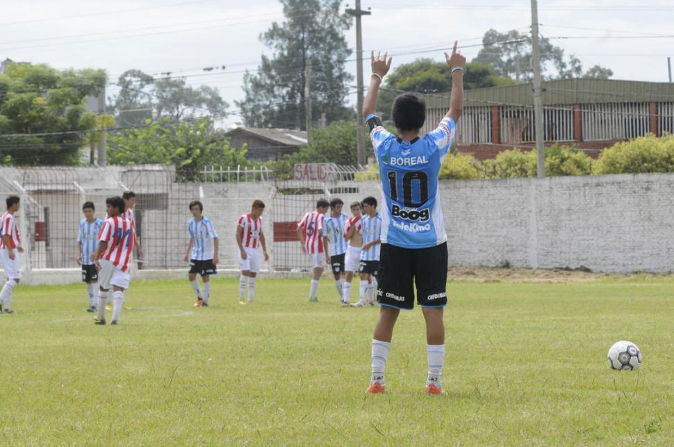
[[[664,278],[655,273],[593,273],[589,270],[550,270],[519,267],[450,266],[449,279],[460,282],[590,282],[600,279]]]

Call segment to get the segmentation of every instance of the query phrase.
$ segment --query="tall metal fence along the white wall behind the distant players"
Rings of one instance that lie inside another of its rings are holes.
[[[340,197],[345,204],[367,195],[379,197],[376,181],[362,167],[323,165],[318,176],[274,179],[269,170],[209,167],[176,172],[173,166],[138,165],[108,168],[0,167],[0,195],[19,195],[19,231],[26,252],[22,269],[76,269],[82,205],[94,202],[96,216],[105,218],[106,197],[124,190],[136,194],[138,238],[145,258],[138,268],[187,268],[183,258],[189,242],[189,204],[200,200],[220,236],[220,268],[238,268],[236,222],[250,211],[253,200],[266,204],[263,215],[270,262],[263,268],[301,271],[311,268],[296,239],[297,221],[315,208],[320,197]],[[196,179],[186,181],[186,179]],[[345,206],[347,211],[348,206]]]

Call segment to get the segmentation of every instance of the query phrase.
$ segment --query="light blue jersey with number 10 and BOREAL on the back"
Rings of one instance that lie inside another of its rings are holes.
[[[404,248],[434,247],[447,241],[438,174],[457,126],[445,117],[423,138],[404,141],[367,119],[372,148],[379,163],[384,204],[381,243]]]

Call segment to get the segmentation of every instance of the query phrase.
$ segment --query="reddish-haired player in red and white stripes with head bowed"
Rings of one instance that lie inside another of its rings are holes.
[[[260,248],[269,261],[267,243],[262,231],[262,213],[265,204],[262,200],[256,200],[251,206],[250,213],[241,216],[236,224],[236,244],[239,247],[239,266],[241,277],[239,278],[239,304],[246,304],[243,300],[248,288],[248,303],[253,302],[255,297],[255,277],[260,270]]]

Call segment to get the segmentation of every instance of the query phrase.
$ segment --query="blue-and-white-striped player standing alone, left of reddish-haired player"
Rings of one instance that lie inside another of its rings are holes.
[[[190,243],[185,254],[185,261],[190,262],[188,279],[192,290],[197,294],[195,307],[208,307],[211,301],[211,275],[217,271],[217,233],[213,222],[204,216],[204,204],[199,200],[190,202],[192,218],[188,222]],[[204,288],[199,290],[197,274],[202,277]]]

